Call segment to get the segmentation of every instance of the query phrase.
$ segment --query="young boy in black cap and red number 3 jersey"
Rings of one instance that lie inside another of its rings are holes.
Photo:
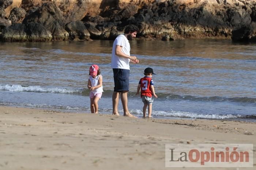
[[[144,77],[140,79],[138,88],[137,88],[137,93],[136,95],[139,94],[139,91],[141,89],[141,98],[142,102],[144,103],[143,106],[143,117],[146,117],[146,110],[148,106],[148,117],[152,118],[151,112],[152,112],[152,103],[154,101],[154,98],[157,98],[157,95],[155,94],[155,89],[154,89],[154,82],[152,79],[152,75],[154,74],[153,69],[150,67],[147,67],[144,70]],[[153,95],[153,96],[152,96]]]

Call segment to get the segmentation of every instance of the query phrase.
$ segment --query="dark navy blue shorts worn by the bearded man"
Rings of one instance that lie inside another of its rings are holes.
[[[113,68],[114,74],[114,91],[129,91],[129,75],[130,70],[121,69],[121,68]]]

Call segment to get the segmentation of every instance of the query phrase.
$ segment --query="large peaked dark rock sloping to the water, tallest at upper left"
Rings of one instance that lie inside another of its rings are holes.
[[[23,24],[35,22],[44,25],[52,33],[53,40],[67,40],[68,32],[64,29],[60,9],[51,2],[42,4],[35,12],[25,17]]]

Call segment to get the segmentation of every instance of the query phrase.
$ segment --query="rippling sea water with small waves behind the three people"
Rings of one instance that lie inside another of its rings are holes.
[[[113,41],[0,43],[0,105],[90,112],[89,67],[103,76],[99,112],[112,112]],[[155,118],[256,122],[256,44],[231,40],[132,40],[128,107],[141,117],[135,95],[146,67],[154,69]],[[122,114],[121,101],[118,105]]]

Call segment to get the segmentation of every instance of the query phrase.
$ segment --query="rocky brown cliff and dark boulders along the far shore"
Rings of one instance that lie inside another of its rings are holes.
[[[2,41],[139,38],[255,41],[256,0],[0,0]]]

